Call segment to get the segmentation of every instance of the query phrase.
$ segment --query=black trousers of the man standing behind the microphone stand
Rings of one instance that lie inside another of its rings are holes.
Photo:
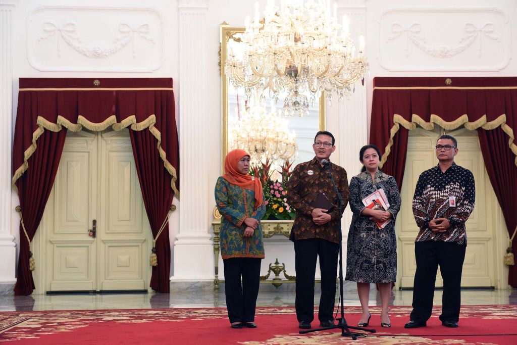
[[[296,269],[296,317],[298,321],[314,320],[314,274],[316,259],[320,256],[322,294],[320,297],[320,321],[333,320],[336,300],[339,245],[321,238],[294,241]]]

